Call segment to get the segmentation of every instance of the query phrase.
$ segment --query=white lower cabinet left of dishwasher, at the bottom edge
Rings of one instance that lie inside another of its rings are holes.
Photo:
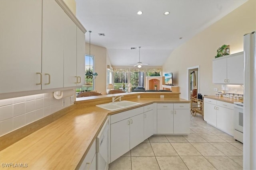
[[[96,141],[92,143],[78,170],[96,170]]]

